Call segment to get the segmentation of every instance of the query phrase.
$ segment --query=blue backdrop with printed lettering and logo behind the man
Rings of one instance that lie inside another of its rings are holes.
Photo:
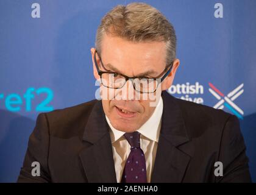
[[[129,2],[0,0],[0,182],[16,181],[38,113],[94,99],[96,29]],[[256,182],[256,1],[143,2],[176,29],[181,64],[169,93],[240,118]]]

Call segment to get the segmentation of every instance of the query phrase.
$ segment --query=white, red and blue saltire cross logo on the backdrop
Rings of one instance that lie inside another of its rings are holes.
[[[224,107],[228,108],[234,115],[238,118],[243,119],[244,112],[238,107],[233,101],[238,98],[243,92],[244,83],[241,83],[234,90],[230,91],[227,96],[225,96],[221,91],[219,91],[212,83],[209,83],[209,91],[210,93],[218,99],[218,103],[214,105],[213,108],[223,109]]]

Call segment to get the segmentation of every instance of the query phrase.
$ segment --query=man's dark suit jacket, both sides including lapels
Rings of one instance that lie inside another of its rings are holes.
[[[166,92],[162,97],[151,182],[251,182],[236,116]],[[101,101],[40,113],[18,182],[116,182],[108,130]],[[40,163],[40,177],[31,175],[32,161]],[[216,161],[222,177],[214,174]]]

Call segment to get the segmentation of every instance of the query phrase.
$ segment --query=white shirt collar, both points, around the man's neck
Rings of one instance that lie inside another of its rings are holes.
[[[162,97],[160,97],[157,103],[157,106],[155,107],[155,110],[151,115],[151,117],[137,131],[140,132],[144,137],[148,138],[149,140],[158,142],[159,133],[161,129],[162,113],[163,113],[163,99]],[[110,127],[110,130],[111,130],[110,138],[112,140],[112,143],[114,143],[119,138],[121,138],[125,132],[115,129],[110,123],[110,120],[108,119],[107,115],[105,115],[105,118],[107,119],[108,126]]]

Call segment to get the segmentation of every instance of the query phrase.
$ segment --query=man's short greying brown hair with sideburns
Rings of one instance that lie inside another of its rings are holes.
[[[165,16],[151,5],[133,2],[117,5],[101,20],[96,34],[95,47],[101,53],[104,34],[111,34],[129,41],[164,41],[166,65],[176,58],[176,34]]]

